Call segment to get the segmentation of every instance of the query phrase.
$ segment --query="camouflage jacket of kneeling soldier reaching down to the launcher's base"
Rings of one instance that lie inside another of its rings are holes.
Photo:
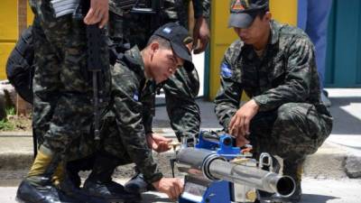
[[[162,173],[158,171],[157,164],[153,161],[152,150],[148,148],[145,139],[143,126],[145,106],[141,102],[143,94],[149,92],[148,89],[153,88],[154,83],[145,78],[143,59],[136,46],[126,51],[123,60],[111,68],[111,75],[112,97],[109,114],[115,115],[118,131],[116,142],[120,141],[125,151],[115,153],[129,156],[148,182],[160,180]],[[112,144],[117,145],[116,142]],[[117,149],[108,144],[106,148]]]

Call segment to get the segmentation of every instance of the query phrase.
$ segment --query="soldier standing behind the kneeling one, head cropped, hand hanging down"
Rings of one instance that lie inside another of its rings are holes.
[[[152,1],[149,1],[152,2]],[[210,0],[193,0],[195,27],[193,29],[194,42],[200,42],[195,53],[204,51],[208,44],[208,24]],[[146,45],[154,28],[162,23],[178,22],[188,27],[188,8],[190,1],[165,0],[163,8],[156,15],[139,14],[130,11],[122,0],[110,1],[109,36],[116,43],[130,43],[141,49]],[[163,84],[166,108],[171,120],[171,127],[180,140],[181,137],[192,138],[199,133],[200,114],[195,98],[199,93],[199,76],[196,69],[187,71],[178,69],[175,74]],[[152,121],[154,115],[155,93],[143,97],[144,130],[148,141],[159,135],[153,134]],[[125,184],[125,189],[132,193],[140,193],[152,186],[143,181],[142,174],[137,174]]]

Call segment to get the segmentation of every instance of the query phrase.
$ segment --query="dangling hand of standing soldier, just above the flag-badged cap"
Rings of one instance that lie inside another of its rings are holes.
[[[206,50],[209,42],[209,28],[207,20],[204,17],[196,19],[193,28],[193,47],[194,54],[198,54]]]

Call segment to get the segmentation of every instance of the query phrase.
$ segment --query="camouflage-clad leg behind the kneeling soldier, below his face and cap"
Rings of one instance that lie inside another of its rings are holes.
[[[199,93],[197,71],[177,70],[163,89],[171,128],[178,140],[182,136],[191,138],[199,134],[200,112],[195,99]]]

